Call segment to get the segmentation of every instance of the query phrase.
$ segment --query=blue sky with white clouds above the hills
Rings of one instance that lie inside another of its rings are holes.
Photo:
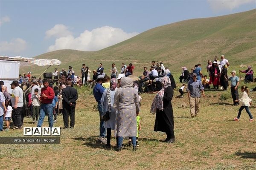
[[[157,26],[254,8],[255,0],[0,0],[0,55],[96,51]]]

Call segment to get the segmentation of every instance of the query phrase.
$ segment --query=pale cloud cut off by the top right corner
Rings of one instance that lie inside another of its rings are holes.
[[[213,11],[233,10],[247,3],[254,3],[255,0],[207,0]]]

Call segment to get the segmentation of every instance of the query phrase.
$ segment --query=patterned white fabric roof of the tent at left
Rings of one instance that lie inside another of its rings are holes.
[[[6,56],[0,56],[0,60],[6,60],[6,61],[24,61],[29,62],[35,65],[39,66],[46,66],[46,65],[60,65],[61,61],[58,59],[35,59],[35,58],[25,58],[25,57],[6,57]]]

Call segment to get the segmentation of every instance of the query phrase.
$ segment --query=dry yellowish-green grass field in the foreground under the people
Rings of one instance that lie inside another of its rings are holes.
[[[180,87],[180,83],[177,86]],[[249,84],[255,87],[256,83]],[[240,86],[241,87],[241,86]],[[233,106],[228,91],[206,91],[201,99],[200,114],[190,118],[189,108],[180,108],[181,102],[189,105],[187,94],[178,98],[175,90],[172,105],[175,116],[176,143],[159,142],[166,136],[154,132],[155,116],[149,113],[155,94],[142,94],[140,111],[142,130],[140,147],[133,151],[124,140],[124,149],[105,149],[96,142],[99,135],[99,113],[93,111],[96,104],[91,89],[79,88],[74,129],[61,130],[61,144],[0,144],[1,170],[255,170],[256,169],[256,122],[242,112],[240,122],[233,122],[239,106]],[[220,96],[226,100],[220,100]],[[256,92],[250,97],[254,103],[250,111],[256,118]],[[63,127],[58,116],[55,127]],[[24,119],[24,126],[31,124]],[[48,126],[45,119],[43,126]],[[23,136],[23,129],[9,130],[0,136]]]

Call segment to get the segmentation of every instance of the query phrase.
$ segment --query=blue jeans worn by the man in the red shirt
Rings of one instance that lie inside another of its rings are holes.
[[[41,104],[37,127],[42,127],[45,116],[48,116],[49,127],[53,127],[52,103]]]

